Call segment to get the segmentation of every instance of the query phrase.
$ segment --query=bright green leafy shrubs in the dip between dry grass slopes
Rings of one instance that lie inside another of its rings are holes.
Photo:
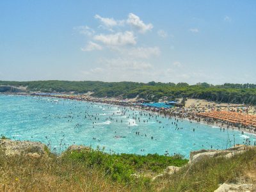
[[[109,175],[114,181],[124,184],[134,182],[133,173],[150,173],[156,175],[161,173],[169,166],[183,166],[188,163],[187,159],[181,156],[159,156],[158,154],[148,154],[147,156],[139,156],[135,154],[106,154],[101,150],[89,150],[83,152],[69,151],[64,157],[71,161],[83,163],[86,167],[97,167],[103,173]],[[141,177],[142,178],[142,177]],[[148,182],[143,179],[143,182]]]

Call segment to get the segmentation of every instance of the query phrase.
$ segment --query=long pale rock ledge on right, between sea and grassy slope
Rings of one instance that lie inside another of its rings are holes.
[[[236,145],[235,147],[227,148],[226,150],[197,150],[190,153],[189,163],[200,161],[204,157],[227,157],[230,158],[235,154],[240,154],[249,150],[252,146]]]

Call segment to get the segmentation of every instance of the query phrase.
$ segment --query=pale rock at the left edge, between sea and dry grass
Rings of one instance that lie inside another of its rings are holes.
[[[32,141],[0,140],[0,150],[6,156],[24,154],[31,157],[46,157],[49,154],[49,148],[46,145]]]

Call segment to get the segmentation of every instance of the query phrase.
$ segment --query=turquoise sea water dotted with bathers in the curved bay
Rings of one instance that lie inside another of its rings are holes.
[[[82,144],[105,147],[106,152],[165,154],[167,151],[170,155],[189,157],[191,150],[227,148],[234,143],[242,144],[246,138],[253,145],[256,140],[253,134],[242,135],[232,129],[223,132],[218,127],[188,120],[179,120],[176,127],[172,122],[175,118],[149,116],[145,111],[108,104],[0,95],[0,134],[15,140],[42,141],[56,152],[72,144]]]

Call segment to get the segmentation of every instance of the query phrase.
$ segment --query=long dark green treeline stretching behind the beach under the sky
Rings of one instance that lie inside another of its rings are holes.
[[[256,104],[256,84],[213,85],[208,83],[134,83],[101,81],[0,81],[0,85],[26,86],[31,92],[93,92],[96,97],[140,97],[157,101],[177,98],[207,99],[218,102]]]

